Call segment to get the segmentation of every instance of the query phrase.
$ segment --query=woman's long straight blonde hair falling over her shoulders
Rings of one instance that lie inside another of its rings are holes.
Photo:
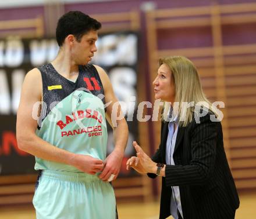
[[[200,103],[202,107],[213,112],[216,115],[216,108],[212,106],[210,101],[205,97],[202,91],[200,82],[200,76],[198,75],[195,65],[184,56],[168,56],[159,59],[159,66],[162,64],[168,65],[172,72],[172,79],[175,84],[175,106],[173,110],[176,110],[176,114],[179,118],[180,126],[187,126],[193,119],[195,111],[195,104]],[[184,107],[183,103],[194,102],[192,107]],[[167,105],[165,103],[165,110],[163,110],[162,118],[166,118]],[[201,107],[200,107],[201,108]]]

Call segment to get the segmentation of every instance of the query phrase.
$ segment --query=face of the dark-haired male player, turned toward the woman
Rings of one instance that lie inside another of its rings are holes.
[[[94,56],[94,52],[97,51],[95,42],[98,39],[98,31],[91,30],[84,34],[80,42],[74,38],[74,44],[71,50],[71,59],[77,65],[86,65],[91,61],[91,57]]]

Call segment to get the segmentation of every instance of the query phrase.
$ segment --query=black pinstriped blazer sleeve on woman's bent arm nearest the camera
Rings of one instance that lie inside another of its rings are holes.
[[[191,126],[189,165],[166,165],[166,186],[202,185],[213,173],[216,156],[216,122],[210,121],[209,114],[200,123]]]

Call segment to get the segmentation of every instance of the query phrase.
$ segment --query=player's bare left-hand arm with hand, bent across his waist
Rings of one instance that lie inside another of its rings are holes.
[[[33,105],[41,101],[41,97],[41,74],[37,68],[34,68],[27,73],[22,87],[16,124],[18,147],[38,158],[72,165],[85,173],[95,174],[101,171],[103,167],[102,160],[91,156],[73,154],[57,148],[35,134],[37,121],[32,118],[32,111]]]

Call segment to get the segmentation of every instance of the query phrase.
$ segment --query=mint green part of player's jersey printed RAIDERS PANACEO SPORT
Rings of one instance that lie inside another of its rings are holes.
[[[80,101],[74,96],[79,96]],[[106,158],[105,111],[102,100],[84,91],[75,91],[56,104],[42,122],[37,136],[75,154]],[[35,158],[36,170],[79,172],[75,167]]]

